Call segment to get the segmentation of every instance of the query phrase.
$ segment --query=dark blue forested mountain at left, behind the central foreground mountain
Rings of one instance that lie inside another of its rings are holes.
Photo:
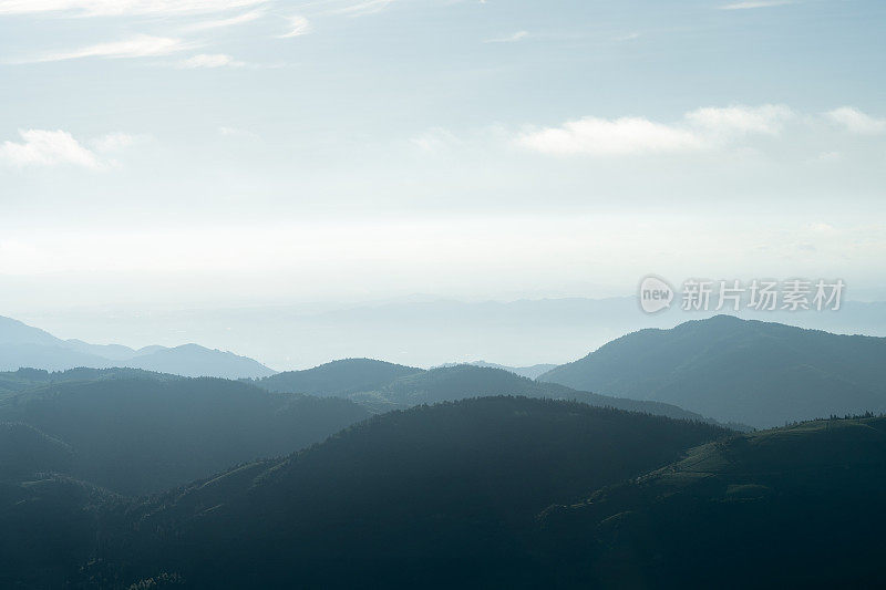
[[[73,373],[84,372],[95,370]],[[70,466],[51,470],[126,495],[161,491],[237,463],[285,455],[369,416],[347,400],[272,394],[219,379],[133,370],[104,372],[93,381],[52,377],[0,398],[0,423],[28,425],[8,441],[14,445],[0,449],[0,459],[10,453],[24,462],[55,441],[70,449]],[[44,463],[34,459],[33,465],[33,472],[47,470]]]

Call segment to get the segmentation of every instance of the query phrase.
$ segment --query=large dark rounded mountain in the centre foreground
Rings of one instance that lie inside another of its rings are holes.
[[[105,536],[87,571],[189,588],[542,583],[544,507],[727,434],[518,397],[393,412],[130,508],[137,527]]]

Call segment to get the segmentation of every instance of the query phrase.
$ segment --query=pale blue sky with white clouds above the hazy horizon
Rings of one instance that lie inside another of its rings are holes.
[[[884,22],[864,0],[0,0],[0,314],[648,273],[886,299]]]

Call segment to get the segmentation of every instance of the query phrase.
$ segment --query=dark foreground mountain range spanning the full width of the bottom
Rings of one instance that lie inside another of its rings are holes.
[[[736,434],[481,397],[378,415],[143,498],[29,472],[70,462],[33,428],[0,427],[0,442],[32,447],[0,472],[9,587],[886,582],[886,421],[870,415]]]

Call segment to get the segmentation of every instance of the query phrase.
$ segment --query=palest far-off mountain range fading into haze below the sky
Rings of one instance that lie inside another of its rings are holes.
[[[858,289],[852,292],[859,294]],[[880,294],[876,297],[883,299]],[[59,333],[76,334],[90,342],[113,342],[119,334],[164,342],[171,333],[186,333],[193,342],[235,352],[245,351],[244,343],[248,342],[249,355],[275,369],[309,368],[330,359],[359,356],[408,366],[485,359],[519,368],[542,362],[560,364],[629,332],[669,329],[714,314],[686,312],[673,304],[649,315],[639,309],[636,297],[507,302],[401,298],[199,310],[154,308],[150,313],[117,312],[113,322],[101,309],[78,313],[47,310],[28,320],[59,327],[54,328]],[[742,310],[740,315],[834,333],[886,337],[883,301],[846,300],[836,313]]]

